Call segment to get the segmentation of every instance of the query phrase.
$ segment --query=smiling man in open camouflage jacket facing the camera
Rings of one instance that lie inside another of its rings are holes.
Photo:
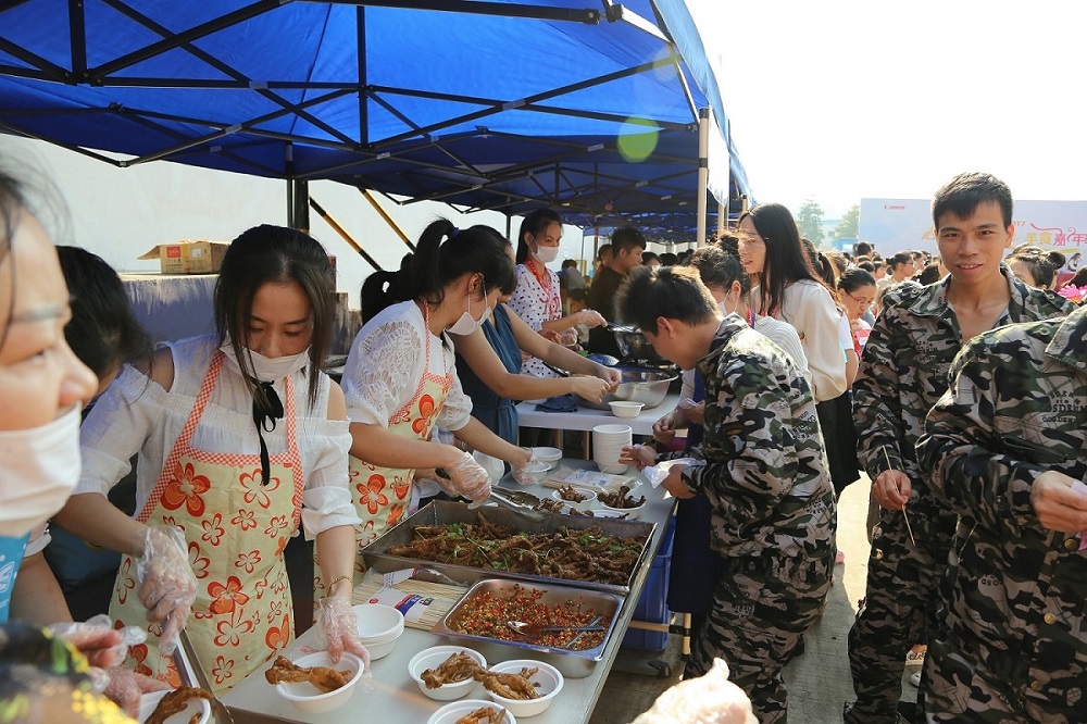
[[[1002,182],[957,176],[937,192],[933,221],[950,274],[888,291],[853,385],[859,457],[880,509],[864,607],[849,632],[857,700],[846,707],[848,724],[900,721],[905,654],[934,621],[955,516],[933,499],[914,446],[925,415],[947,391],[951,360],[963,340],[982,332],[1069,309],[1001,263],[1014,230],[1011,191]]]

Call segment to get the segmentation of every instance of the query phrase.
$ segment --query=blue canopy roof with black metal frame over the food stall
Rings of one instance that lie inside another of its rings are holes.
[[[709,188],[738,203],[683,0],[0,3],[0,130],[123,166],[613,225],[694,213],[702,108]]]

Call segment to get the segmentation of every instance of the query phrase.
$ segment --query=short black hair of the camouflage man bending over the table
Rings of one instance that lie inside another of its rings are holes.
[[[636,266],[619,289],[617,308],[620,319],[655,335],[657,317],[703,324],[713,319],[717,303],[690,266]]]

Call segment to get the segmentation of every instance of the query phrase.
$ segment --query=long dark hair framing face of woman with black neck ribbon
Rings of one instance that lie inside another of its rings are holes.
[[[317,401],[321,364],[328,353],[335,316],[336,277],[328,254],[312,237],[285,226],[254,226],[230,242],[215,283],[215,328],[218,344],[227,339],[241,366],[253,399],[268,404],[264,389],[254,382],[249,354],[253,298],[265,284],[295,283],[310,301],[313,332],[310,337],[309,399]]]

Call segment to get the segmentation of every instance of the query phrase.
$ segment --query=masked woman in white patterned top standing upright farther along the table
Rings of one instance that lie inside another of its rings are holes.
[[[597,327],[608,322],[590,309],[562,315],[559,276],[547,267],[559,253],[561,240],[562,216],[550,209],[537,209],[525,216],[517,242],[517,288],[509,304],[536,332],[554,333],[561,342],[573,344],[577,341],[577,326]],[[525,361],[523,371],[536,377],[555,376],[535,357]]]

